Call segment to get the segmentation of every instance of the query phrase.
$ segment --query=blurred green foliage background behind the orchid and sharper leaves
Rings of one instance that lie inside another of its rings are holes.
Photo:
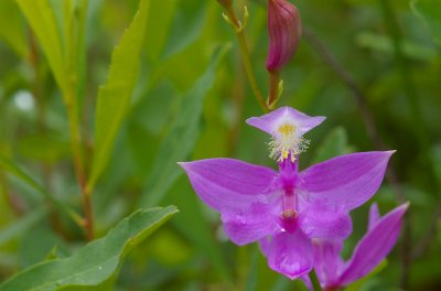
[[[49,2],[62,23],[63,1]],[[78,79],[87,173],[98,87],[106,83],[114,46],[138,3],[90,0],[87,4],[85,63],[79,66],[84,75]],[[440,290],[440,2],[294,3],[305,33],[282,72],[279,105],[327,117],[309,133],[311,146],[300,166],[352,151],[395,149],[389,179],[374,200],[381,213],[401,201],[411,203],[400,242],[387,263],[354,290]],[[238,15],[244,4],[250,13],[245,34],[265,93],[266,1],[235,0]],[[230,157],[276,166],[268,157],[267,136],[245,123],[262,111],[222,11],[215,0],[149,1],[139,76],[92,196],[95,231],[104,236],[140,207],[173,204],[180,213],[128,255],[118,290],[303,288],[272,272],[256,245],[237,247],[228,241],[219,216],[197,200],[176,165]],[[0,155],[80,213],[67,112],[46,60],[19,6],[0,1]],[[85,244],[78,226],[56,208],[42,211],[40,205],[47,201],[6,166],[0,168],[0,281],[44,260],[54,246],[57,256],[65,257]],[[352,214],[347,256],[366,230],[367,207]]]

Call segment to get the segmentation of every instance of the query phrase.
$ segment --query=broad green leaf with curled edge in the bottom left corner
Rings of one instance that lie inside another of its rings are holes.
[[[87,290],[115,278],[127,252],[178,212],[176,207],[137,211],[122,219],[104,238],[97,239],[66,259],[35,265],[0,285],[8,290],[58,290],[84,287]],[[108,288],[108,285],[106,285]]]

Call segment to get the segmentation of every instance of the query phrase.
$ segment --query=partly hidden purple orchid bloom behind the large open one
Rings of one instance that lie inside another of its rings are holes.
[[[380,217],[378,206],[374,203],[370,206],[368,230],[346,262],[340,256],[343,247],[341,240],[314,239],[314,269],[322,288],[327,291],[340,290],[369,273],[397,242],[408,206],[408,203],[402,204]]]

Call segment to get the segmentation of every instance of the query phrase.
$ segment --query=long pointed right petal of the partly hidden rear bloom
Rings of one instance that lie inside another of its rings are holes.
[[[401,218],[408,206],[406,203],[389,212],[367,231],[347,262],[340,278],[340,285],[347,285],[366,276],[389,254],[398,239]]]

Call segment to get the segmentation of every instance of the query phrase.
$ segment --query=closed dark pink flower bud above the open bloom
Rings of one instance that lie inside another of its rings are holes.
[[[287,0],[268,0],[267,69],[278,72],[295,53],[301,35],[299,10]]]

